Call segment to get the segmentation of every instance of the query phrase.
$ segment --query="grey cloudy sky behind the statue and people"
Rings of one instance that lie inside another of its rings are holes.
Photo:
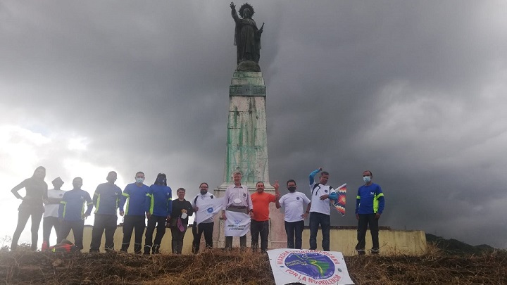
[[[324,167],[350,192],[333,224],[354,225],[368,169],[382,225],[507,247],[506,1],[250,3],[272,182],[306,191]],[[229,4],[0,1],[0,236],[15,229],[10,190],[38,165],[90,194],[110,170],[121,188],[139,170],[189,196],[222,184]]]

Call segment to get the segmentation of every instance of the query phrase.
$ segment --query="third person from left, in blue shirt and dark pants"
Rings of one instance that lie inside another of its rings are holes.
[[[61,232],[58,234],[58,243],[67,239],[70,230],[74,235],[74,244],[80,250],[83,249],[82,236],[84,230],[84,219],[92,213],[93,201],[87,191],[81,189],[82,178],[73,179],[73,189],[63,194],[62,201],[58,208],[58,217],[61,220]],[[87,211],[84,212],[84,205]]]

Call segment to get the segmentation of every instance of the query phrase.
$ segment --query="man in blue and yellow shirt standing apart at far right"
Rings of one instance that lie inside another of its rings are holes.
[[[358,220],[358,243],[356,251],[358,255],[365,254],[365,237],[368,224],[372,235],[373,248],[372,254],[380,253],[378,239],[378,220],[384,211],[384,193],[380,185],[373,183],[373,174],[370,170],[363,172],[363,181],[365,184],[358,189],[356,199],[356,219]]]

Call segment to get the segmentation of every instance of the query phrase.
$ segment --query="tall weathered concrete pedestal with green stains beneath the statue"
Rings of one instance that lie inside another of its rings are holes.
[[[266,87],[262,72],[235,71],[229,89],[229,120],[227,123],[227,153],[223,184],[214,191],[215,197],[223,197],[227,186],[232,184],[232,172],[243,173],[242,184],[252,194],[256,182],[264,182],[265,192],[275,194],[270,185],[268,168],[268,139],[265,116]],[[284,183],[281,183],[282,186]],[[223,247],[225,236],[221,215],[215,216],[213,246]],[[260,242],[260,241],[259,241]],[[251,236],[247,234],[247,246]],[[239,246],[239,238],[233,239],[233,246]],[[275,203],[270,205],[270,235],[268,248],[285,248],[287,235],[284,216]]]

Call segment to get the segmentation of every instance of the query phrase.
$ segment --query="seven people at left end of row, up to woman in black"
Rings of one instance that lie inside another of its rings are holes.
[[[111,171],[106,177],[107,182],[97,186],[93,198],[87,191],[81,189],[82,178],[73,179],[73,189],[61,190],[63,181],[60,177],[53,180],[54,189],[48,189],[44,178],[46,169],[37,167],[32,177],[23,180],[11,191],[23,200],[18,208],[18,225],[13,234],[11,250],[18,247],[18,240],[25,225],[32,217],[32,251],[37,250],[39,225],[44,215],[42,250],[49,247],[51,229],[56,231],[58,243],[67,239],[73,231],[74,243],[83,249],[84,219],[94,211],[92,242],[90,252],[99,252],[102,235],[105,233],[106,251],[114,250],[114,233],[117,227],[118,210],[123,221],[123,242],[121,251],[130,247],[130,239],[134,232],[134,252],[142,253],[142,235],[144,239],[144,254],[160,253],[160,245],[168,226],[173,234],[173,253],[181,254],[183,236],[187,230],[188,217],[193,213],[189,201],[184,200],[185,189],[177,189],[177,199],[173,201],[173,193],[167,186],[165,174],[159,173],[155,183],[151,186],[144,184],[144,173],[137,172],[135,182],[127,184],[122,191],[115,185],[117,173]],[[25,196],[18,191],[25,188]],[[84,210],[87,207],[86,211]],[[146,218],[148,227],[146,227]],[[144,232],[146,228],[146,233]],[[157,230],[155,239],[153,234]]]

